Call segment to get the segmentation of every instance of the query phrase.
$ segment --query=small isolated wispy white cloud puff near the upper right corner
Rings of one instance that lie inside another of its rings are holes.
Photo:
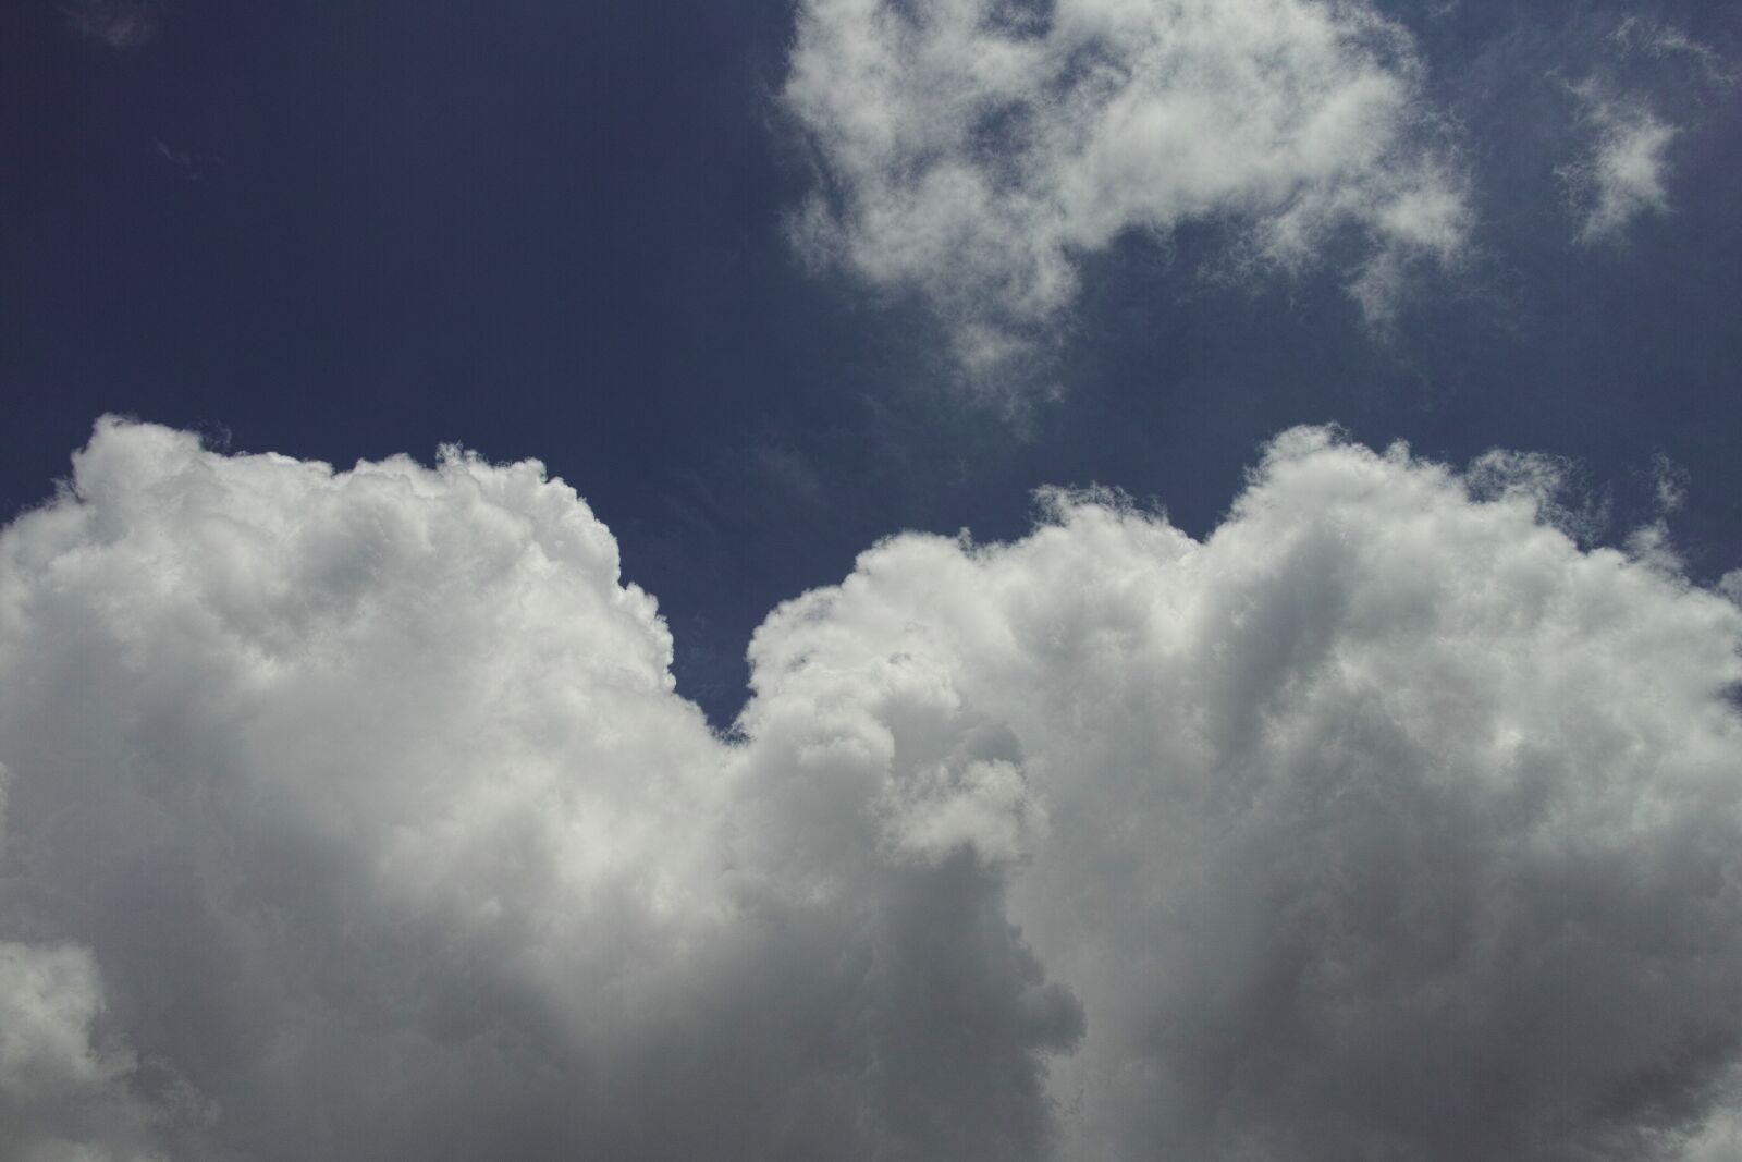
[[[1615,242],[1634,220],[1669,211],[1667,152],[1679,132],[1643,98],[1618,96],[1597,82],[1573,85],[1590,134],[1590,152],[1556,172],[1578,218],[1578,240]]]

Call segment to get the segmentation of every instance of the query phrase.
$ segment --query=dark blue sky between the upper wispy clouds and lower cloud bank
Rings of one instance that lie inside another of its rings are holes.
[[[105,411],[340,465],[538,456],[617,533],[716,721],[770,606],[878,537],[1010,537],[1047,483],[1204,533],[1300,422],[1570,456],[1615,540],[1667,456],[1691,575],[1742,564],[1735,85],[1606,64],[1681,132],[1669,213],[1580,246],[1566,78],[1613,56],[1624,9],[1388,9],[1458,125],[1467,267],[1373,334],[1334,260],[1230,287],[1200,275],[1218,226],[1165,254],[1127,239],[1084,267],[1045,368],[1063,397],[1012,423],[956,390],[923,305],[793,254],[815,159],[775,99],[784,0],[165,0],[131,49],[21,0],[0,12],[0,503],[44,498]],[[1651,14],[1737,59],[1733,5]]]

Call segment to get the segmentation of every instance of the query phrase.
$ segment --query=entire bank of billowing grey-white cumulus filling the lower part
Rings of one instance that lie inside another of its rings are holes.
[[[535,462],[103,422],[0,533],[0,1153],[1709,1162],[1742,610],[1279,437],[751,645]]]

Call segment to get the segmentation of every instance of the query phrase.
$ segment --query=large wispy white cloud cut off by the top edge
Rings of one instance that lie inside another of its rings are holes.
[[[1045,345],[1085,258],[1186,223],[1272,270],[1357,233],[1383,319],[1470,220],[1421,71],[1366,3],[805,0],[782,101],[820,172],[793,233],[923,296],[981,380]]]

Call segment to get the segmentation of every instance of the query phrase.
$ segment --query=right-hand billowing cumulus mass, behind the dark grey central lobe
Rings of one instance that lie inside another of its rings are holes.
[[[1536,517],[1296,432],[1207,544],[1068,497],[890,542],[760,702],[901,657],[1009,725],[1070,1157],[1650,1157],[1742,1033],[1742,622]]]

